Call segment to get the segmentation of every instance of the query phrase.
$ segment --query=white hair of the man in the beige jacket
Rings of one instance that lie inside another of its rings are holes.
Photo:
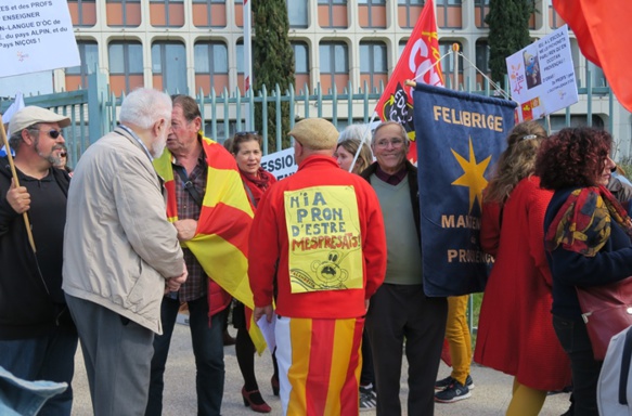
[[[151,88],[138,88],[122,100],[119,119],[122,125],[132,123],[149,129],[160,118],[171,120],[172,108],[168,94]]]

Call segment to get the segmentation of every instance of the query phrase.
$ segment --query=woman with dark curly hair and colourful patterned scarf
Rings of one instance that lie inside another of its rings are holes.
[[[553,327],[572,367],[575,415],[598,415],[595,361],[576,287],[632,275],[632,221],[606,188],[615,162],[612,138],[593,128],[563,129],[542,144],[536,162],[541,186],[553,190],[544,218],[544,247],[553,275]]]

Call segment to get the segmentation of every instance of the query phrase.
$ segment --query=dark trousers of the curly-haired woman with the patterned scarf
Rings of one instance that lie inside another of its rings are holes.
[[[570,359],[575,415],[598,416],[597,382],[603,362],[595,361],[593,356],[585,324],[553,315],[553,328]]]

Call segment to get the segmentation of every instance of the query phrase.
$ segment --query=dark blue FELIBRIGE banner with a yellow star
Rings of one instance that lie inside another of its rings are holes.
[[[417,83],[413,92],[427,296],[482,291],[481,193],[514,127],[511,101]]]

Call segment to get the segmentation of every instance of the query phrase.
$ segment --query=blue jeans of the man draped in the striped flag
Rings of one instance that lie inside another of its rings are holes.
[[[223,396],[223,316],[222,311],[208,318],[208,300],[206,296],[191,300],[189,304],[189,326],[195,355],[195,389],[197,392],[197,415],[215,416],[221,411]],[[150,382],[150,401],[146,416],[163,414],[164,376],[171,335],[178,317],[180,301],[163,298],[160,318],[163,335],[154,338],[154,358],[152,359],[152,377]]]

